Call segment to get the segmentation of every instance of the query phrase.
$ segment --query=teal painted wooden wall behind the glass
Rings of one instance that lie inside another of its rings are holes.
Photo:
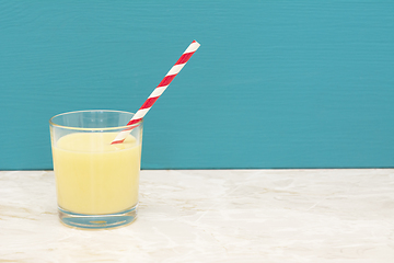
[[[394,1],[0,1],[0,169],[50,169],[48,119],[146,117],[142,168],[394,167]]]

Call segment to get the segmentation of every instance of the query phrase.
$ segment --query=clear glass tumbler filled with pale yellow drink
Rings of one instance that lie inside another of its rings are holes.
[[[132,113],[81,111],[49,119],[60,220],[101,229],[137,217],[142,121],[123,144],[111,145]]]

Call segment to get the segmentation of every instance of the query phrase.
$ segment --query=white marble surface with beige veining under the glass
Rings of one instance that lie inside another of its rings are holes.
[[[0,262],[394,262],[394,169],[142,171],[139,218],[78,230],[51,171],[0,172]]]

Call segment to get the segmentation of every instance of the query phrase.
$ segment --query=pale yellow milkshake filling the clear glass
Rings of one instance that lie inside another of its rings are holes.
[[[117,133],[74,133],[53,146],[60,208],[86,215],[124,211],[138,203],[141,145]]]

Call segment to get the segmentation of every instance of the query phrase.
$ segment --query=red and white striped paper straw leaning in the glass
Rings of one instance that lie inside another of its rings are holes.
[[[186,50],[182,54],[181,58],[176,61],[176,64],[170,69],[170,71],[165,75],[164,79],[160,82],[160,84],[153,90],[153,92],[149,95],[148,100],[142,104],[142,106],[138,110],[138,112],[132,116],[130,122],[128,122],[126,129],[121,130],[116,138],[111,142],[112,145],[121,144],[126,137],[130,134],[131,129],[139,126],[139,122],[143,118],[143,116],[149,112],[154,102],[159,99],[161,94],[165,91],[165,89],[170,85],[171,81],[176,77],[176,75],[181,71],[181,69],[186,65],[193,54],[198,49],[200,44],[196,41],[193,41],[192,44],[186,48]]]

